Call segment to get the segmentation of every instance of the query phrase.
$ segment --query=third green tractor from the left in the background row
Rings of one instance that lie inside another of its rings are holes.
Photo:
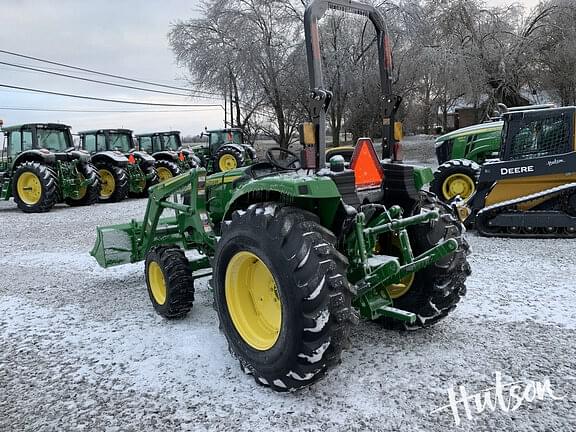
[[[190,149],[182,147],[179,131],[136,135],[138,149],[156,159],[160,181],[166,181],[200,165]]]

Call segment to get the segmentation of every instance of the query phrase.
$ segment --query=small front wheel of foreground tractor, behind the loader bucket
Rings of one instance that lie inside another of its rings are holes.
[[[146,254],[146,286],[154,310],[166,319],[184,318],[194,303],[194,278],[178,246],[155,246]]]

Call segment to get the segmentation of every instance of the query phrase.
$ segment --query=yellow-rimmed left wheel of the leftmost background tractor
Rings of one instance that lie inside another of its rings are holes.
[[[58,178],[38,162],[25,162],[16,168],[12,190],[24,213],[46,213],[58,202]]]

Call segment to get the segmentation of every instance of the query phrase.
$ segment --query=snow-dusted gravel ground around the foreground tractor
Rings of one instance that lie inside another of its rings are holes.
[[[153,311],[143,265],[104,270],[95,226],[141,218],[145,200],[26,215],[0,203],[0,431],[576,430],[576,241],[469,233],[473,275],[432,329],[361,322],[326,379],[295,394],[255,385],[228,354],[207,280],[190,316]],[[454,426],[469,394],[550,379],[556,396]]]

